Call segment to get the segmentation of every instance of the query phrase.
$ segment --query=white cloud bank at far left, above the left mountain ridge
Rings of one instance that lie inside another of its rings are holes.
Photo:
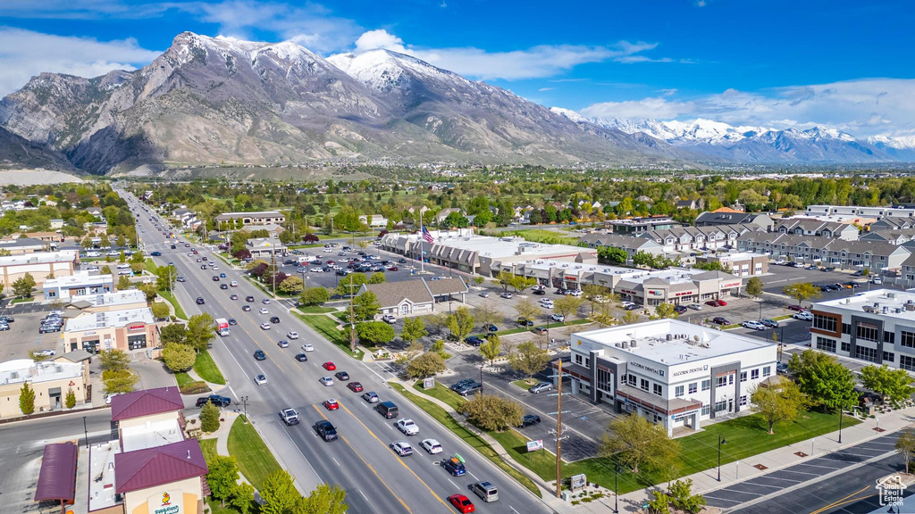
[[[0,48],[0,95],[16,91],[42,71],[98,77],[111,70],[135,70],[161,53],[141,48],[135,39],[99,41],[11,27],[0,27]]]

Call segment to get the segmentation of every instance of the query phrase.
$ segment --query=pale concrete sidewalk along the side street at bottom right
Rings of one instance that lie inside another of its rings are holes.
[[[681,479],[692,478],[693,493],[705,494],[716,489],[733,486],[752,477],[759,477],[787,466],[802,463],[805,460],[833,453],[842,448],[864,443],[881,435],[890,434],[911,426],[913,423],[915,423],[915,407],[894,410],[888,414],[877,416],[875,419],[868,418],[855,426],[843,428],[842,444],[838,443],[838,432],[834,432],[722,465],[721,482],[717,481],[717,467],[694,473],[688,477],[681,477]],[[876,430],[877,428],[879,428],[880,432]],[[795,452],[806,455],[795,455]],[[760,470],[755,467],[759,465],[765,466],[766,469]],[[664,485],[662,484],[660,487],[664,487]],[[620,509],[629,512],[639,511],[641,505],[651,498],[652,490],[655,490],[655,488],[649,487],[621,495],[619,497]]]

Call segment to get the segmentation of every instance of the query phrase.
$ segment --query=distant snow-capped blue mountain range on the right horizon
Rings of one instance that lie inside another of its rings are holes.
[[[646,134],[694,154],[748,164],[868,164],[915,161],[915,136],[858,139],[852,134],[814,126],[806,130],[732,126],[697,119],[690,122],[586,118],[553,108],[576,123],[593,123],[627,134]]]

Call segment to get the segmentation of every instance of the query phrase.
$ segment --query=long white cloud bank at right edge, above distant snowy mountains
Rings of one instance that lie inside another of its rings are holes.
[[[678,100],[676,94],[627,102],[601,102],[588,116],[706,118],[733,125],[807,128],[816,124],[856,136],[915,133],[915,80],[862,79],[764,91],[728,89]]]

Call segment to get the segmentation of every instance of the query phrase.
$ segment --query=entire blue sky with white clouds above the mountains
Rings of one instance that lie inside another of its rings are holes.
[[[597,117],[905,135],[913,22],[904,1],[5,0],[0,94],[39,71],[141,67],[190,30],[392,48]]]

